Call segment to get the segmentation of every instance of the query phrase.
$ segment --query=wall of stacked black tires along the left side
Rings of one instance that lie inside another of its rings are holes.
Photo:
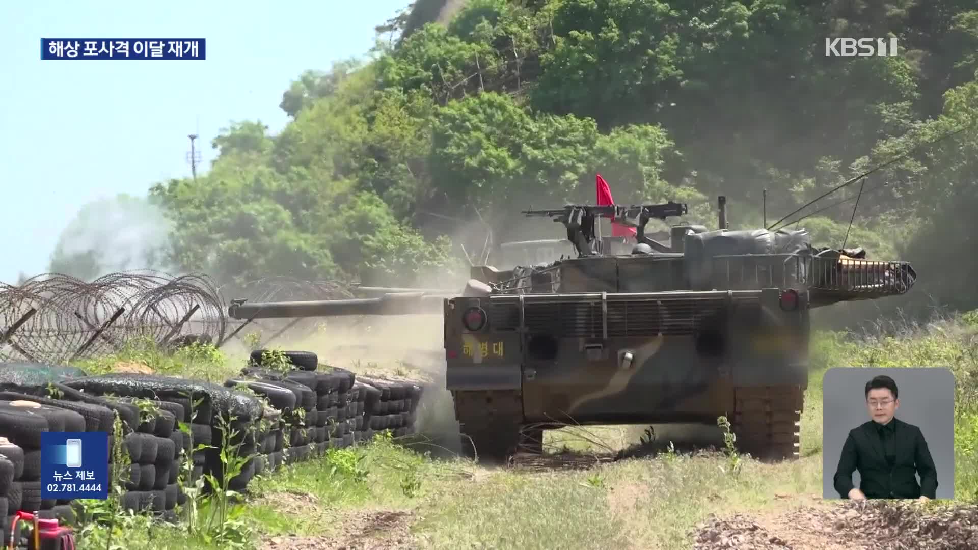
[[[66,522],[73,519],[70,501],[40,498],[40,434],[45,431],[106,432],[111,451],[118,415],[123,437],[118,452],[124,453],[118,458],[125,457],[128,465],[114,468],[116,457],[110,452],[110,473],[125,476],[122,504],[163,516],[186,502],[184,483],[204,473],[221,481],[219,447],[227,442],[223,420],[230,419],[236,433],[230,442],[238,446],[239,456],[251,457],[229,481],[234,490],[243,490],[254,476],[283,464],[369,441],[378,432],[414,434],[420,386],[358,377],[341,368],[319,370],[318,357],[307,351],[285,352],[297,368],[282,373],[261,364],[261,351],[252,353],[242,376],[228,380],[224,388],[152,375],[0,385],[8,389],[0,390],[3,528],[9,528],[10,516],[18,510],[40,511],[43,518]],[[261,399],[235,391],[239,386]],[[188,394],[195,396],[193,402]],[[185,466],[188,462],[190,468]]]

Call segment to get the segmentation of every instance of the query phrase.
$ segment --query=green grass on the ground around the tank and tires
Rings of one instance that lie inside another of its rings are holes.
[[[978,316],[889,329],[888,336],[815,335],[798,461],[743,460],[732,470],[723,452],[663,452],[585,471],[534,473],[434,460],[381,439],[253,481],[236,520],[250,541],[262,533],[329,535],[355,528],[368,511],[385,510],[410,514],[422,548],[688,548],[689,531],[710,514],[818,505],[811,497],[822,493],[822,376],[834,366],[950,368],[957,380],[956,500],[978,500]],[[137,359],[158,372],[208,371],[218,381],[241,364],[207,350],[164,357],[133,348],[88,366],[98,371]],[[637,442],[641,432],[573,428],[548,433],[547,441],[577,451],[616,450]],[[139,522],[124,529],[126,548],[228,547],[186,528]]]

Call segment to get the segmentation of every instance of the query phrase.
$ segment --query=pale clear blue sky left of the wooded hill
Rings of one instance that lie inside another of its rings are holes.
[[[365,54],[409,2],[0,2],[0,281],[44,272],[84,204],[190,175],[188,134],[206,169],[229,121],[279,132],[290,81]],[[40,61],[41,38],[110,37],[206,38],[207,59]]]

